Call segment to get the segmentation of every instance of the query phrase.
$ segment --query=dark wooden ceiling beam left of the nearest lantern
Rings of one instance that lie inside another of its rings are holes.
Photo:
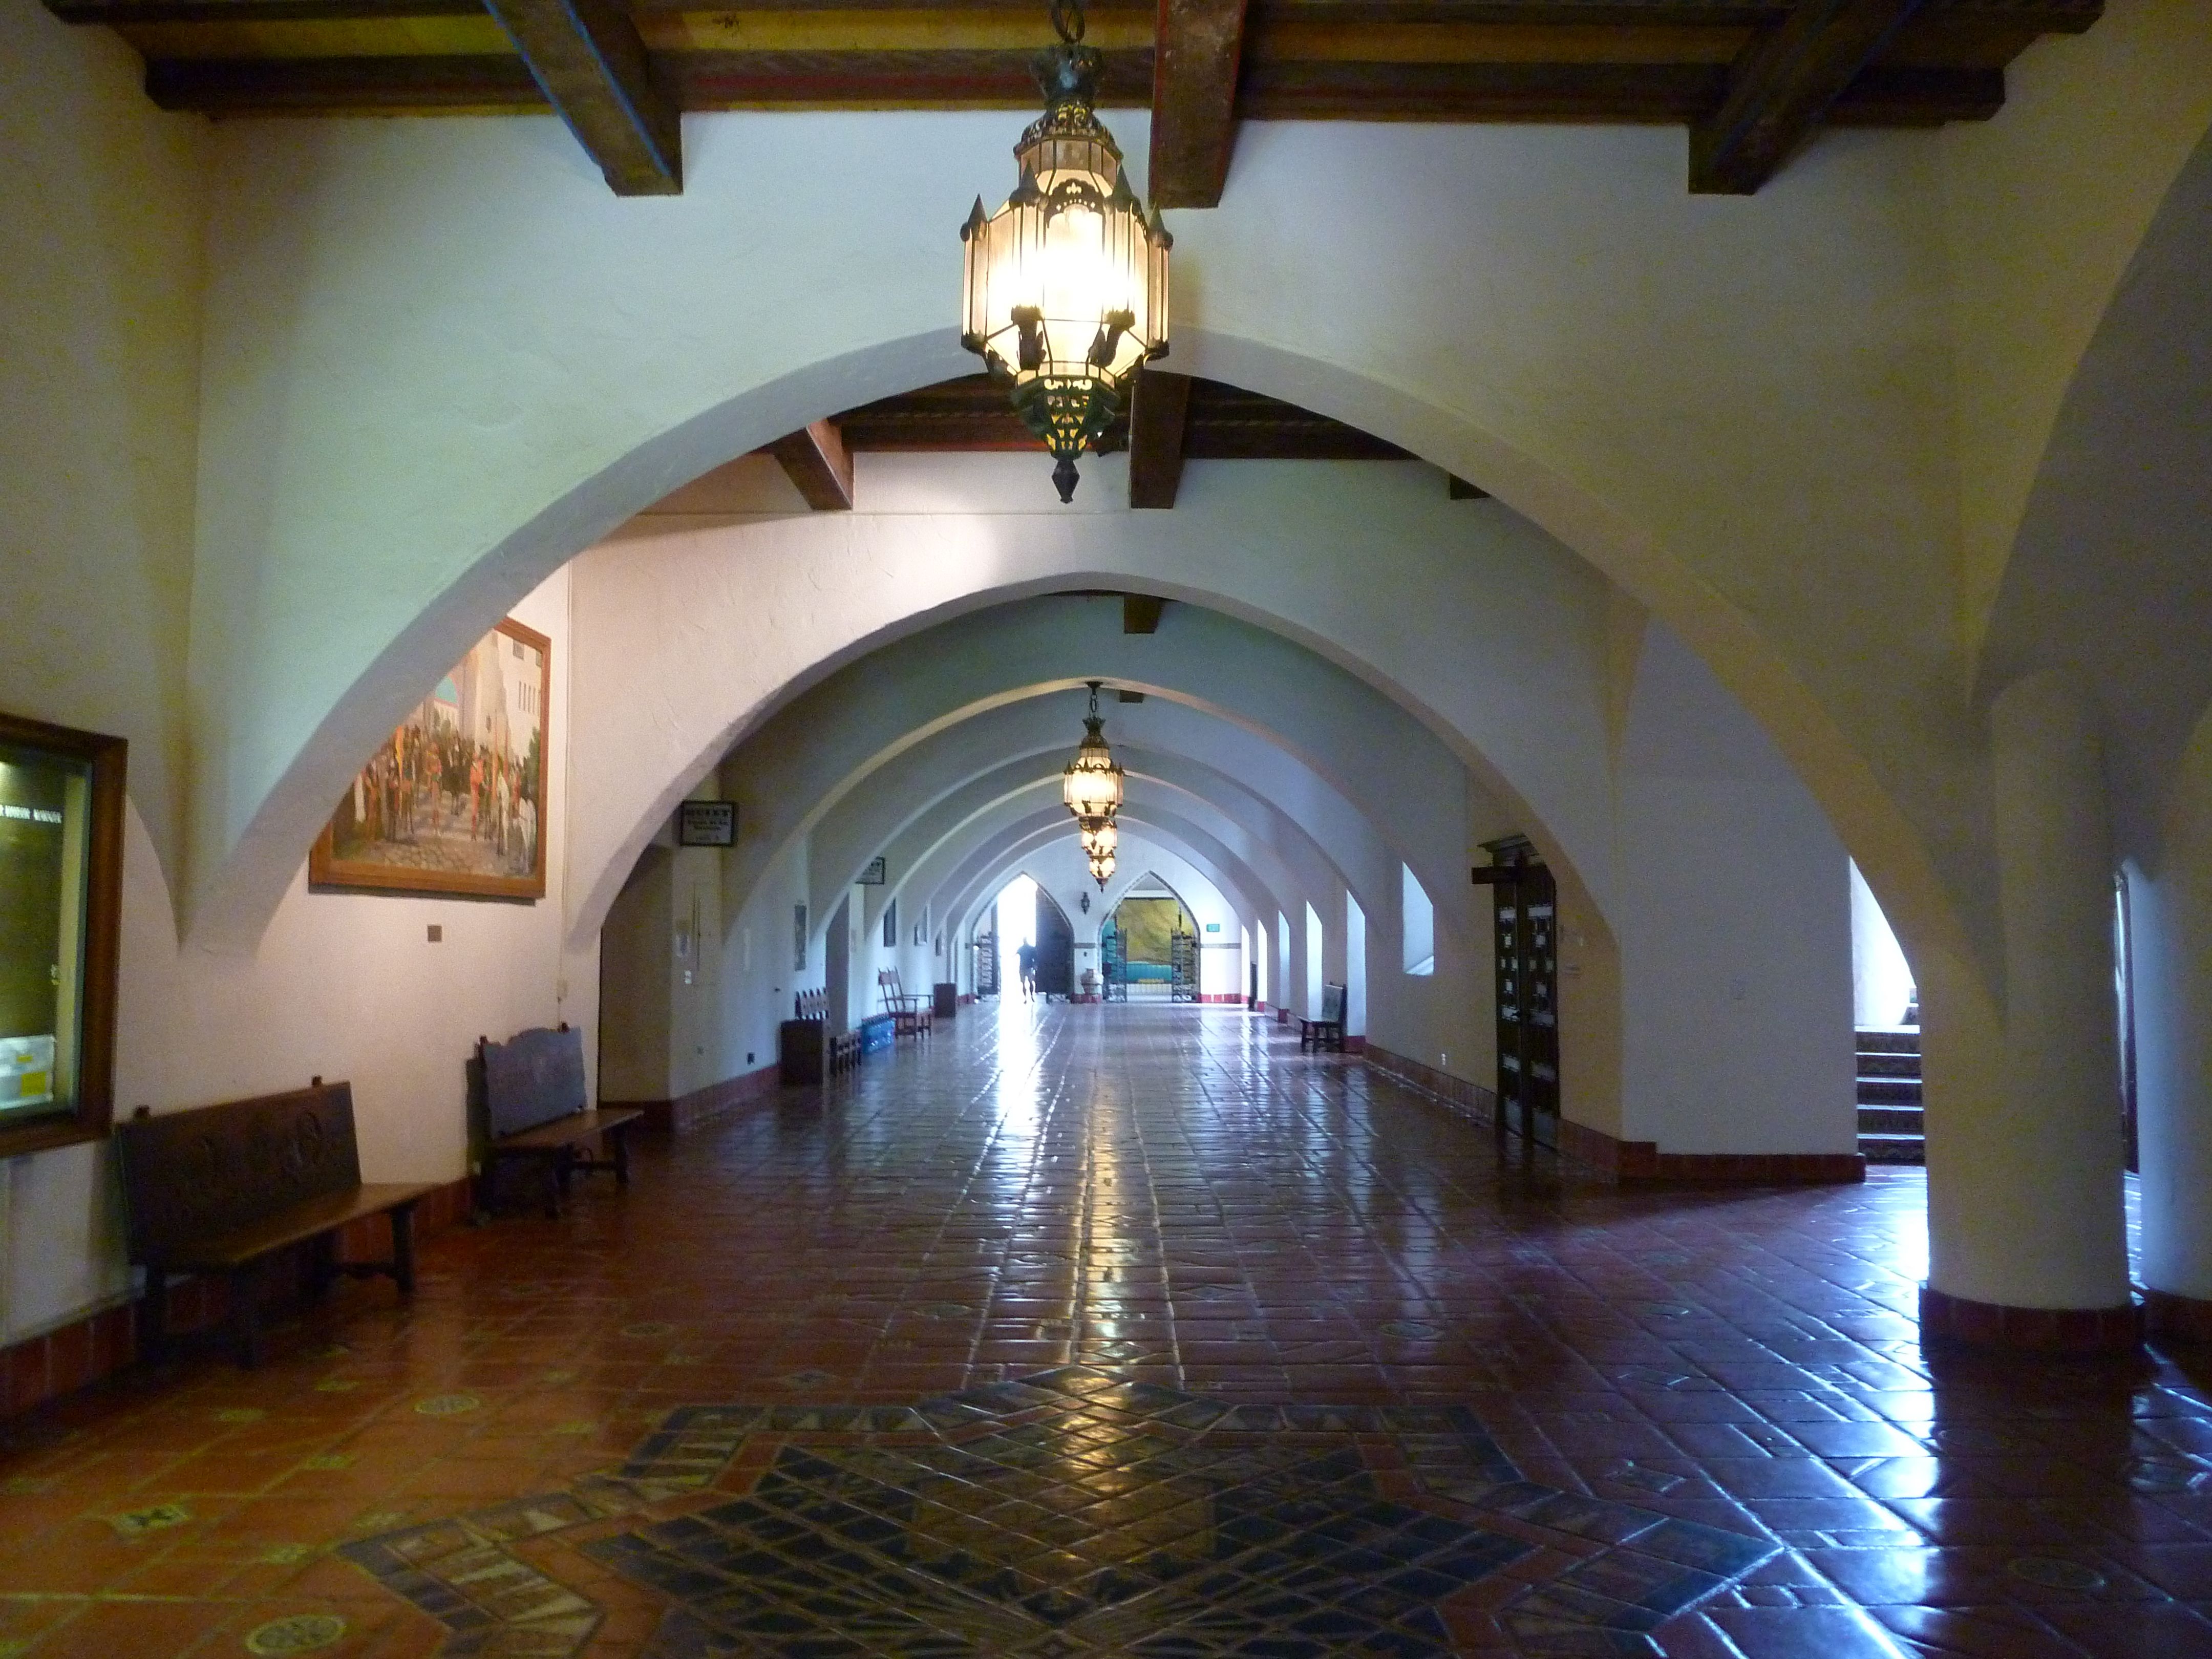
[[[617,197],[684,195],[677,102],[622,0],[484,0]]]

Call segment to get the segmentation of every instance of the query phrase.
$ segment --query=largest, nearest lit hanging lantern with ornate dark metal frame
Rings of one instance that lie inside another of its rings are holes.
[[[1035,62],[1044,115],[1013,146],[1020,181],[989,217],[975,197],[960,228],[960,345],[1011,387],[1068,502],[1075,456],[1097,447],[1137,367],[1168,354],[1175,239],[1128,188],[1097,117],[1102,58],[1082,44],[1082,0],[1051,7],[1060,44]]]

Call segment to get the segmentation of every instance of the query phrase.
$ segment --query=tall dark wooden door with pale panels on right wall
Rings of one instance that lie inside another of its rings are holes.
[[[1559,891],[1522,836],[1484,843],[1498,971],[1498,1139],[1559,1144]]]

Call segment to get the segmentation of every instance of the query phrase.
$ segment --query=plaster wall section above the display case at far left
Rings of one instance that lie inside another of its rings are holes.
[[[137,53],[108,31],[0,0],[0,708],[131,739],[131,799],[168,874],[186,796],[204,139],[197,117],[146,102]]]

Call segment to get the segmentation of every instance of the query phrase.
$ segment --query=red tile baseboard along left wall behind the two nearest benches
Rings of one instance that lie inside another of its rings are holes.
[[[429,1239],[456,1228],[471,1214],[471,1183],[447,1181],[416,1206],[416,1239]],[[383,1217],[363,1217],[338,1232],[338,1261],[387,1261],[392,1232]],[[276,1261],[265,1281],[274,1305],[299,1298],[307,1287],[305,1256],[290,1252]],[[230,1287],[221,1279],[173,1279],[168,1287],[168,1327],[197,1332],[219,1325],[230,1314]],[[75,1394],[88,1383],[113,1376],[137,1358],[137,1305],[97,1307],[82,1318],[0,1349],[0,1416]]]

